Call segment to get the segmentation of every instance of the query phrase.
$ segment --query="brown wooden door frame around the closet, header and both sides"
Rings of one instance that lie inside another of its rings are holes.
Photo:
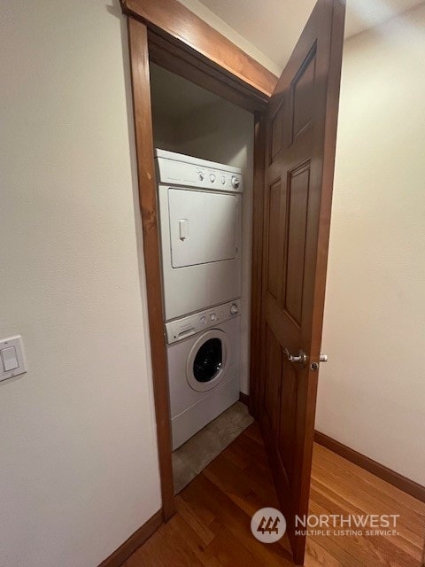
[[[259,246],[264,186],[264,128],[261,113],[271,97],[277,77],[176,0],[121,0],[121,7],[128,15],[159,475],[162,514],[166,521],[173,516],[175,507],[149,63],[151,60],[254,114],[250,369],[250,410],[254,417],[258,416],[259,408]]]

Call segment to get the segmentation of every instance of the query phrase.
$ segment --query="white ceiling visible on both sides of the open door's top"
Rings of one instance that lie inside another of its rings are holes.
[[[200,0],[281,69],[315,0]],[[423,0],[347,0],[345,37],[376,26]]]

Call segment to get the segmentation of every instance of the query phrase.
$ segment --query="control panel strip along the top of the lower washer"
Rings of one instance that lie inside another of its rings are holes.
[[[211,329],[220,322],[228,321],[240,315],[241,300],[228,301],[217,307],[200,311],[195,315],[188,315],[177,321],[166,322],[166,342],[168,345],[176,343],[183,338],[196,335],[202,330]]]

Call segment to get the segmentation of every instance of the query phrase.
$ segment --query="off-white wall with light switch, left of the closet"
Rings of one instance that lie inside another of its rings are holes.
[[[0,384],[7,567],[95,566],[160,508],[127,39],[109,4],[1,7],[0,337],[22,335],[28,367]]]

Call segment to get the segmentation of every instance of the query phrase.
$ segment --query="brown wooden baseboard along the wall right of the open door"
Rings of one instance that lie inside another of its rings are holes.
[[[398,472],[388,469],[380,462],[369,459],[366,455],[358,453],[358,451],[343,445],[339,441],[336,441],[336,439],[332,439],[320,431],[314,432],[314,440],[316,443],[319,443],[319,445],[322,445],[330,451],[344,457],[347,461],[351,461],[354,464],[359,465],[362,469],[368,470],[376,477],[382,478],[386,482],[390,483],[390,485],[396,486],[403,492],[425,502],[425,486],[418,485],[413,482],[413,480],[410,480],[410,478],[403,477],[398,474]]]

